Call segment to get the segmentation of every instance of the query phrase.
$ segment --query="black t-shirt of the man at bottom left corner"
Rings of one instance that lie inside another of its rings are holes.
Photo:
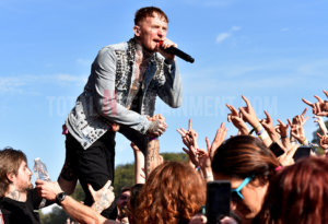
[[[26,202],[0,198],[0,209],[4,224],[40,224],[38,216],[38,205],[42,198],[38,197],[36,189],[27,192]]]

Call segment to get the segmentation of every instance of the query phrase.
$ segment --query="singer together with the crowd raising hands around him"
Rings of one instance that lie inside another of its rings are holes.
[[[181,105],[177,63],[166,51],[177,45],[166,38],[167,23],[161,9],[142,8],[136,13],[134,37],[98,52],[63,126],[67,151],[58,181],[37,179],[34,188],[25,154],[0,151],[1,224],[40,223],[43,199],[46,205],[61,205],[77,223],[328,223],[328,102],[319,96],[316,103],[302,98],[319,125],[318,145],[305,135],[307,109],[273,126],[268,111],[260,120],[242,96],[246,106],[226,105],[235,135],[226,138],[222,123],[214,140],[206,139],[207,149],[200,149],[189,120],[188,129],[177,129],[188,162],[163,161],[157,138],[166,123],[154,115],[155,98],[173,108]],[[115,201],[117,131],[131,141],[136,185],[121,189]],[[86,193],[84,203],[69,196],[78,180]],[[229,181],[224,205],[230,212],[210,220],[207,184],[213,181]]]

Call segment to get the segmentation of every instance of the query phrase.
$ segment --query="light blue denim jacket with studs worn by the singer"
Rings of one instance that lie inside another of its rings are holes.
[[[69,132],[87,149],[112,123],[127,126],[145,134],[153,116],[156,96],[171,107],[181,105],[181,79],[175,61],[166,62],[153,54],[141,84],[140,111],[127,109],[136,70],[136,40],[109,45],[99,50],[92,63],[83,93],[66,119]]]

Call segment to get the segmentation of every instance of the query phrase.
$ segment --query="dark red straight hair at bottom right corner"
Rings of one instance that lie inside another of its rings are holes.
[[[327,170],[327,158],[315,156],[283,167],[270,181],[258,223],[328,223]]]

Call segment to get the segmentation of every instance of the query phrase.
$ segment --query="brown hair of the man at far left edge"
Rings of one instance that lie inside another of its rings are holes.
[[[12,173],[17,175],[22,162],[26,162],[26,155],[12,148],[4,148],[0,151],[0,197],[3,197],[11,181],[7,175]]]

